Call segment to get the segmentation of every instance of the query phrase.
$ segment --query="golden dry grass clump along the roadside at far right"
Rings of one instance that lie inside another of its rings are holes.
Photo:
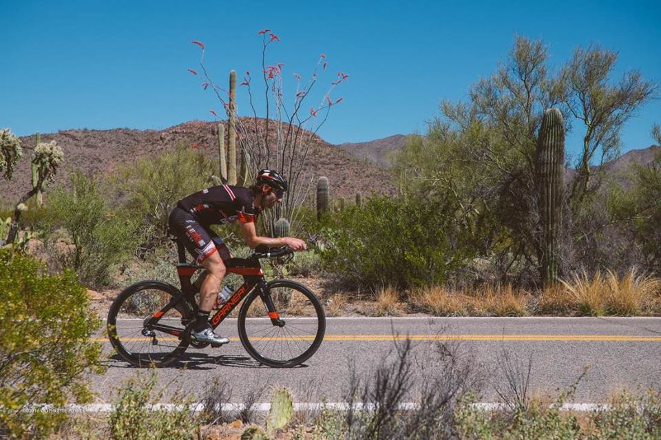
[[[634,269],[623,277],[607,271],[590,278],[583,271],[545,289],[539,307],[542,313],[649,315],[661,311],[661,280]]]

